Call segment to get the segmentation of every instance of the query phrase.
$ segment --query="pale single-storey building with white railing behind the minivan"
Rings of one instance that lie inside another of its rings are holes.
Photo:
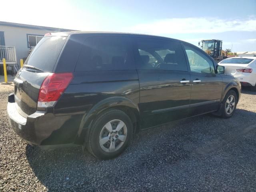
[[[30,48],[49,32],[74,31],[70,29],[35,26],[0,21],[0,71],[2,59],[6,59],[8,70],[13,70],[14,64],[20,66],[20,59],[28,57]]]

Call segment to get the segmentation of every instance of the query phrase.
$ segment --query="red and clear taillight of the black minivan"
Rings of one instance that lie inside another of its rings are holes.
[[[72,73],[52,73],[48,75],[40,87],[37,106],[53,106],[68,87],[72,78]]]

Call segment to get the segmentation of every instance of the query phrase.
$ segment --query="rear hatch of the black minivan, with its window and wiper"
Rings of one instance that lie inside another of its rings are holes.
[[[27,117],[36,112],[38,93],[44,79],[53,72],[67,36],[46,36],[28,56],[14,79],[14,99],[18,112]]]

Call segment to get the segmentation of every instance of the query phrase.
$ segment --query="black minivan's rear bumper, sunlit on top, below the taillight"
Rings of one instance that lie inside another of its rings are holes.
[[[13,94],[8,97],[7,114],[14,132],[30,145],[55,148],[73,143],[77,135],[78,127],[74,123],[77,119],[71,115],[54,116],[53,113],[36,111],[27,118],[21,116],[16,110]]]

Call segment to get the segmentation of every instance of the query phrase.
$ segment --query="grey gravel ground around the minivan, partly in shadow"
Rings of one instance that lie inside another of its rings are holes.
[[[0,191],[256,191],[256,92],[230,119],[198,116],[142,131],[114,160],[42,151],[10,129],[0,84]]]

